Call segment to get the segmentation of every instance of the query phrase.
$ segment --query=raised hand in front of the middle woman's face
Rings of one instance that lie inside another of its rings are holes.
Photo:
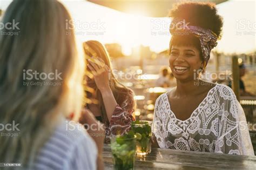
[[[104,61],[99,57],[92,57],[88,59],[87,66],[91,70],[95,83],[100,92],[110,89],[109,86],[109,69]]]

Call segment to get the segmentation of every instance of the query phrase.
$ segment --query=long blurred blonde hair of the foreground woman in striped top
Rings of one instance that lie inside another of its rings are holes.
[[[16,137],[0,135],[0,160],[31,168],[59,120],[71,112],[78,118],[84,97],[84,57],[78,55],[73,30],[66,28],[71,17],[60,2],[13,1],[2,22],[13,19],[19,22],[19,35],[0,34],[0,123],[15,121],[20,131]],[[24,70],[29,69],[57,70],[62,80],[24,79]],[[35,81],[48,85],[31,85]]]

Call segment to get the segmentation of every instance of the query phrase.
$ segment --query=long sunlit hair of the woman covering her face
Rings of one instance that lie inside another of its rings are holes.
[[[133,100],[132,90],[124,86],[122,83],[120,83],[114,76],[112,64],[110,62],[110,56],[105,46],[102,43],[98,42],[97,40],[89,40],[87,42],[84,42],[83,46],[84,46],[85,56],[87,58],[100,57],[103,59],[104,63],[109,67],[109,84],[113,92],[113,96],[116,99],[117,103],[119,105],[122,105],[122,102],[127,97]],[[102,94],[98,89],[96,89],[95,91],[95,96],[102,111],[103,123],[108,124],[110,120],[107,120],[107,114],[106,114],[105,106],[103,103]],[[135,107],[134,102],[133,102],[133,107]]]

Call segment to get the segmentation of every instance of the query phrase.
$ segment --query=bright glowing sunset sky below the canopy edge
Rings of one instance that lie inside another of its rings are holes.
[[[62,2],[76,22],[76,35],[80,41],[96,39],[103,43],[119,43],[126,55],[138,45],[150,46],[155,52],[169,46],[171,19],[168,17],[145,17],[150,11],[143,9],[141,13],[130,15],[83,0]],[[0,8],[5,9],[9,3],[9,0],[1,0]],[[216,50],[226,53],[255,50],[256,2],[228,1],[217,8],[224,18],[224,27],[223,38]]]

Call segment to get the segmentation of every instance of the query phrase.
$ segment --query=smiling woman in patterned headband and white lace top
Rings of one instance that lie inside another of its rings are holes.
[[[223,26],[215,5],[181,3],[170,16],[169,63],[177,86],[156,101],[154,144],[185,151],[254,155],[245,114],[232,89],[199,79]]]

